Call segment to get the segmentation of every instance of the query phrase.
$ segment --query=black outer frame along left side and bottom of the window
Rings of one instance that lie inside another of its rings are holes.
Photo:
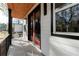
[[[63,37],[63,38],[69,38],[69,39],[75,39],[79,40],[79,36],[76,35],[65,35],[65,34],[56,34],[54,33],[53,29],[53,3],[51,3],[51,36],[56,36],[56,37]]]

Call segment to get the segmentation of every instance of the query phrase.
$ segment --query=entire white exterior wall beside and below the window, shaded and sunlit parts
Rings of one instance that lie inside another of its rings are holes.
[[[47,15],[44,16],[41,4],[41,51],[51,56],[79,55],[79,40],[51,36],[51,5],[47,4]]]

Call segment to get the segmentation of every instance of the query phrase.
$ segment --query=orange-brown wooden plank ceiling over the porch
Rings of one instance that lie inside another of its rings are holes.
[[[12,10],[12,17],[23,19],[34,5],[35,3],[8,3],[8,8]]]

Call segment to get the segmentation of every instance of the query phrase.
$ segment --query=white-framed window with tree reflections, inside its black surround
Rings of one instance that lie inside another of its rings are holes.
[[[79,36],[79,4],[59,5],[53,4],[53,33]]]

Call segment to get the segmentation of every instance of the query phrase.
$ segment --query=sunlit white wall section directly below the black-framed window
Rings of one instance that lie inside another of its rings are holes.
[[[77,56],[79,55],[79,40],[62,37],[50,37],[50,55]]]

